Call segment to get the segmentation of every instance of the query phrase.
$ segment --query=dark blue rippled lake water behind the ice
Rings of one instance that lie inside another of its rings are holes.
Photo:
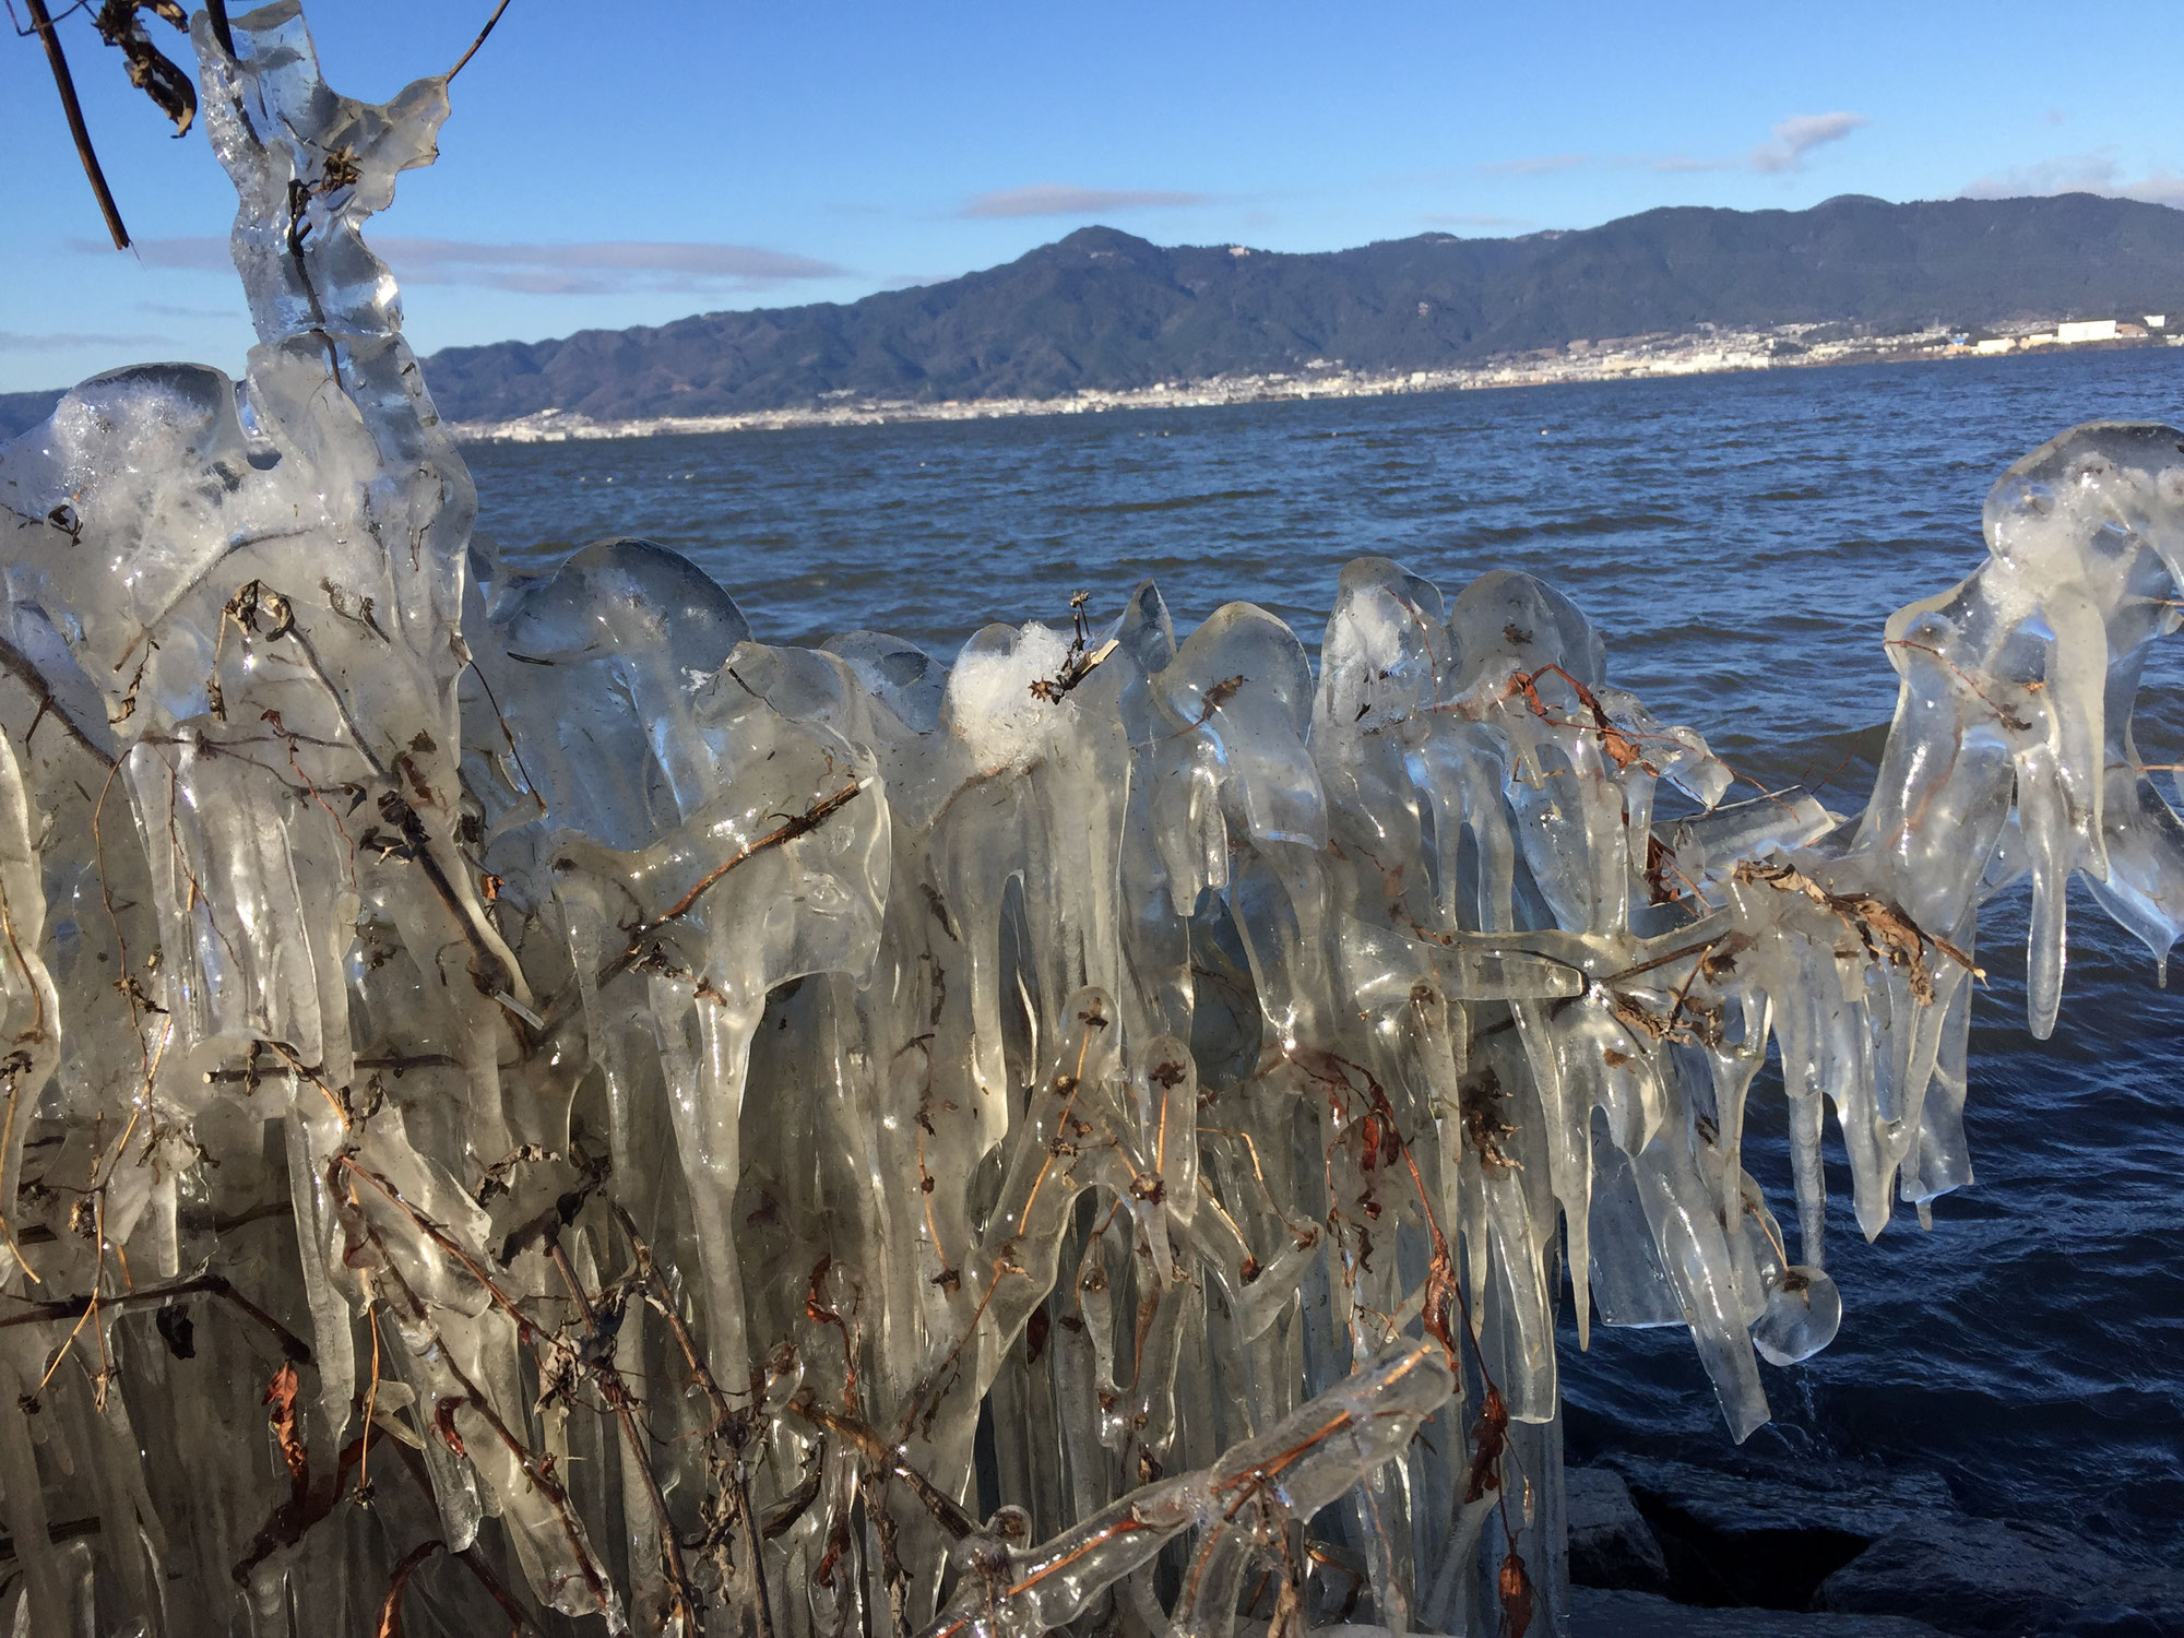
[[[2084,419],[2184,422],[2184,352],[2110,352],[1206,411],[478,448],[483,529],[518,557],[644,533],[697,557],[762,638],[874,627],[950,653],[1160,581],[1177,627],[1249,598],[1317,642],[1343,561],[1446,592],[1562,585],[1610,675],[1756,778],[1854,810],[1896,679],[1880,622],[1983,555],[2001,470]],[[2180,644],[2184,646],[2184,644]],[[2184,762],[2184,664],[2140,701]],[[2184,1562],[2184,998],[2073,902],[2070,983],[2022,1031],[2022,906],[1981,930],[1974,1188],[1865,1247],[1837,1168],[1843,1334],[1767,1372],[1782,1468],[1939,1474],[1957,1503]],[[1749,1168],[1787,1197],[1778,1103]],[[1566,1376],[1577,1455],[1728,1461],[1688,1339],[1599,1332]]]

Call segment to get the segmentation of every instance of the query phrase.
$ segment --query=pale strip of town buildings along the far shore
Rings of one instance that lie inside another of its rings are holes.
[[[808,408],[740,415],[644,415],[594,419],[546,408],[505,422],[454,422],[470,443],[563,443],[574,439],[653,437],[660,432],[762,432],[793,426],[878,426],[885,422],[981,422],[1002,415],[1099,415],[1127,408],[1201,408],[1267,404],[1297,397],[1385,397],[1393,393],[1483,391],[1553,382],[1638,380],[1649,376],[1717,376],[1745,369],[1813,369],[1821,365],[1909,363],[1926,358],[2001,358],[2075,347],[2184,347],[2184,317],[2169,314],[2005,323],[1987,330],[1935,325],[1907,334],[1859,334],[1845,323],[1787,323],[1769,330],[1701,325],[1695,332],[1572,341],[1564,347],[1489,358],[1468,369],[1367,371],[1341,358],[1313,358],[1295,371],[1232,373],[1197,382],[1133,389],[1079,389],[1066,397],[889,400],[847,391],[819,395]]]

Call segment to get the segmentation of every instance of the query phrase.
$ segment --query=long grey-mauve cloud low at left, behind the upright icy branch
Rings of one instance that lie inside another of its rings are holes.
[[[96,249],[76,240],[76,249]],[[404,284],[476,284],[522,295],[625,290],[769,290],[793,280],[832,280],[845,269],[756,245],[594,240],[587,245],[485,245],[463,238],[373,238],[371,249]],[[144,238],[151,266],[225,269],[225,238]]]

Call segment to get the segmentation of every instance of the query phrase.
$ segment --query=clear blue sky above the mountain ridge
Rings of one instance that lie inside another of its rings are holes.
[[[308,15],[332,85],[378,100],[450,66],[489,9]],[[142,358],[238,371],[225,177],[85,15],[61,28],[140,245],[105,247],[44,55],[0,37],[0,391]],[[2151,0],[513,0],[376,242],[430,352],[850,301],[1092,221],[1304,251],[1839,192],[2184,205],[2180,59],[2184,7]]]

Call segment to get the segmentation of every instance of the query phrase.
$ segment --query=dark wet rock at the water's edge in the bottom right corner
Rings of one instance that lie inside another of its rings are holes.
[[[2123,1564],[2044,1522],[1913,1518],[1819,1586],[1819,1605],[1913,1614],[1952,1634],[2160,1638],[2184,1631],[2184,1577]]]

